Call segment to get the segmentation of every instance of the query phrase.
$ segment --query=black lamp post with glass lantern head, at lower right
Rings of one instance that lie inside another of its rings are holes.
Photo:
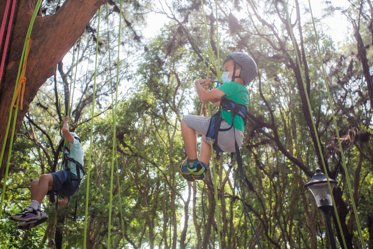
[[[334,185],[337,184],[337,181],[329,178],[329,183],[331,189],[333,189]],[[336,249],[332,224],[329,217],[329,211],[333,207],[332,196],[329,187],[327,186],[326,175],[321,172],[320,168],[317,168],[316,173],[311,177],[311,180],[304,185],[304,187],[311,191],[313,197],[315,197],[317,208],[324,212],[330,247]]]

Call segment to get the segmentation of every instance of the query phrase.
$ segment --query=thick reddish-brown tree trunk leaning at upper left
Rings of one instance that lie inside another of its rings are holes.
[[[44,82],[54,75],[57,63],[83,34],[85,27],[108,0],[66,0],[57,12],[50,16],[37,16],[31,33],[31,49],[27,59],[26,86],[23,96],[23,109],[19,108],[15,134],[19,130],[29,105]],[[5,58],[4,74],[0,82],[0,144],[3,145],[8,117],[16,84],[18,67],[21,60],[26,32],[37,0],[19,0],[16,3],[9,46]],[[0,13],[4,13],[5,0],[1,0]],[[1,54],[0,54],[1,56]],[[13,108],[13,107],[12,107]],[[14,108],[12,120],[14,118]],[[12,124],[10,125],[12,127]],[[0,179],[4,177],[4,165],[11,141],[9,131]],[[16,136],[14,136],[14,139]]]

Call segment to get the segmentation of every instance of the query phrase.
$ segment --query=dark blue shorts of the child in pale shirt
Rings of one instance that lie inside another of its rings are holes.
[[[77,180],[78,177],[75,174],[71,173],[70,186],[68,186],[68,174],[66,170],[59,170],[50,174],[53,177],[53,187],[47,194],[53,194],[56,192],[58,195],[66,197],[68,196],[68,188],[70,188],[70,196],[78,191],[80,181]]]

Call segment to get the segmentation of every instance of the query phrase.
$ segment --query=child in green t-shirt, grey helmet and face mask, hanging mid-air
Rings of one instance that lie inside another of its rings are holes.
[[[204,86],[211,79],[198,79],[194,85],[201,101],[210,101],[214,105],[220,105],[220,100],[225,98],[247,108],[248,90],[245,87],[258,75],[258,67],[254,60],[240,52],[231,53],[223,63],[224,71],[222,84],[210,91],[205,91]],[[217,145],[224,152],[235,152],[235,143],[241,147],[244,137],[244,119],[236,115],[234,129],[232,114],[221,109],[222,118],[219,126],[219,140]],[[180,164],[180,172],[188,181],[202,180],[207,172],[207,164],[211,159],[211,146],[209,133],[211,118],[197,115],[185,115],[181,121],[181,133],[188,159]],[[200,157],[197,158],[197,138],[195,132],[203,135],[201,139]],[[216,148],[215,148],[216,149]]]

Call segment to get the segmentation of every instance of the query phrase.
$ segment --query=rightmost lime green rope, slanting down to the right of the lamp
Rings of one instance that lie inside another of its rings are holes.
[[[351,187],[351,183],[350,183],[350,178],[348,177],[348,171],[347,171],[347,166],[346,166],[346,162],[345,162],[345,157],[344,157],[344,154],[343,154],[343,149],[342,149],[342,144],[341,144],[341,138],[339,138],[337,121],[336,121],[335,115],[334,115],[333,102],[332,102],[332,98],[330,97],[329,86],[328,86],[327,81],[326,81],[326,73],[325,73],[324,64],[323,64],[323,57],[321,55],[320,44],[319,44],[319,37],[317,35],[316,26],[315,26],[315,22],[314,22],[314,19],[313,19],[313,14],[312,14],[310,0],[308,0],[308,4],[310,6],[311,18],[312,18],[312,23],[313,23],[313,30],[314,30],[315,37],[316,37],[317,51],[319,52],[320,64],[321,64],[321,67],[323,69],[325,87],[326,87],[327,96],[328,96],[328,99],[329,99],[330,110],[332,111],[333,122],[334,122],[334,130],[336,131],[338,145],[339,145],[339,150],[341,151],[342,164],[343,164],[343,169],[344,169],[344,172],[345,172],[345,175],[346,175],[348,191],[350,193],[350,198],[351,198],[351,204],[352,204],[352,208],[354,209],[354,214],[355,214],[355,219],[356,219],[356,225],[357,225],[357,228],[358,228],[361,245],[363,246],[363,248],[366,248],[366,246],[365,246],[366,244],[365,244],[365,241],[364,241],[364,238],[363,238],[363,233],[361,232],[360,220],[359,220],[359,217],[358,217],[358,214],[357,214],[357,209],[356,209],[356,206],[355,206],[354,194],[352,193],[352,187]],[[329,177],[327,175],[326,168],[324,168],[324,171],[325,171],[325,176],[326,176],[326,178],[329,181]]]

